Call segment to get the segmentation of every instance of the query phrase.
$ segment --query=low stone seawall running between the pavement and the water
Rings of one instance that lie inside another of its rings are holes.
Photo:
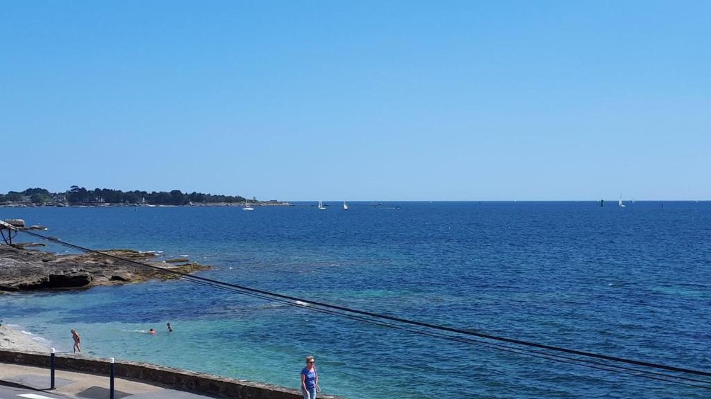
[[[49,376],[49,354],[0,351],[0,363],[47,368]],[[55,356],[55,367],[59,370],[109,376],[109,359]],[[144,383],[156,383],[178,390],[225,398],[301,399],[299,390],[133,361],[117,361],[114,364],[114,375],[117,378],[130,378]],[[319,398],[341,399],[331,395],[319,395]]]

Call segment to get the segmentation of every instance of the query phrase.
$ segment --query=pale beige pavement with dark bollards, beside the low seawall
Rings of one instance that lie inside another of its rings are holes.
[[[48,393],[84,399],[109,399],[109,377],[83,374],[74,371],[55,371],[55,389],[50,388],[49,368],[18,366],[0,363],[0,384],[19,386]],[[167,386],[141,383],[124,378],[114,378],[114,399],[207,399]],[[35,398],[39,399],[39,398]]]

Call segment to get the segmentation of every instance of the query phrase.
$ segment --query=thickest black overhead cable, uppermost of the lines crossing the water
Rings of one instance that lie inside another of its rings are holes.
[[[47,241],[54,242],[55,244],[60,244],[60,245],[62,245],[62,246],[68,246],[69,248],[75,248],[75,249],[77,249],[78,251],[87,252],[87,253],[94,253],[94,254],[97,254],[97,255],[99,255],[99,256],[105,256],[105,257],[107,257],[107,258],[113,258],[113,259],[118,260],[118,261],[127,262],[127,263],[132,263],[132,264],[135,264],[135,265],[138,265],[138,266],[147,267],[147,268],[152,268],[152,269],[154,269],[154,270],[160,270],[160,271],[166,270],[165,268],[161,268],[161,267],[159,267],[159,266],[152,266],[152,265],[149,265],[149,264],[147,264],[147,263],[141,263],[141,262],[137,262],[137,261],[132,261],[131,259],[120,258],[119,256],[110,255],[110,254],[108,254],[108,253],[102,253],[102,252],[100,252],[100,251],[95,251],[95,250],[92,250],[92,249],[90,249],[90,248],[85,248],[85,247],[82,247],[82,246],[77,246],[77,245],[75,245],[75,244],[69,244],[69,243],[66,243],[66,242],[64,242],[64,241],[61,241],[61,240],[59,240],[59,239],[55,239],[55,238],[52,238],[52,237],[43,236],[43,235],[41,235],[41,234],[36,234],[36,233],[31,232],[31,231],[27,231],[27,230],[21,230],[21,231],[25,232],[26,234],[31,234],[32,236],[37,236],[37,237],[39,237],[39,238],[41,238],[41,239],[45,239],[45,240],[47,240]],[[561,352],[565,352],[565,353],[567,353],[567,354],[575,354],[575,355],[577,355],[577,356],[593,357],[593,358],[597,358],[597,359],[604,359],[604,360],[606,360],[606,361],[617,361],[617,362],[626,363],[626,364],[635,364],[635,365],[637,365],[637,366],[646,366],[646,367],[649,367],[649,368],[659,368],[659,369],[663,369],[663,370],[667,370],[667,371],[676,371],[676,372],[680,372],[680,373],[690,373],[690,374],[696,374],[696,375],[700,375],[700,376],[711,376],[711,372],[707,372],[707,371],[698,371],[698,370],[693,370],[693,369],[689,369],[689,368],[680,368],[680,367],[675,367],[675,366],[666,366],[666,365],[663,365],[663,364],[653,364],[653,363],[649,363],[649,362],[646,362],[646,361],[637,361],[637,360],[634,360],[634,359],[624,359],[624,358],[620,358],[620,357],[617,357],[617,356],[608,356],[608,355],[602,355],[602,354],[594,354],[594,353],[592,353],[592,352],[577,351],[577,350],[574,350],[574,349],[561,348],[561,347],[559,347],[559,346],[551,346],[551,345],[545,345],[545,344],[537,344],[537,343],[535,343],[535,342],[523,341],[523,340],[520,340],[520,339],[511,339],[511,338],[506,338],[506,337],[497,337],[497,336],[490,335],[490,334],[483,334],[483,333],[479,333],[479,332],[471,332],[471,331],[466,331],[466,330],[462,330],[462,329],[455,329],[455,328],[452,328],[452,327],[438,326],[438,325],[435,325],[435,324],[429,324],[429,323],[424,323],[424,322],[417,322],[417,321],[413,321],[413,320],[409,320],[409,319],[402,319],[402,318],[400,318],[400,317],[393,317],[393,316],[389,316],[389,315],[380,315],[380,314],[373,313],[373,312],[365,312],[365,311],[363,311],[363,310],[355,310],[355,309],[351,309],[351,308],[348,308],[348,307],[343,307],[343,306],[338,306],[338,305],[331,305],[331,304],[327,304],[327,303],[324,303],[324,302],[316,302],[316,301],[306,300],[306,299],[303,299],[303,298],[292,297],[292,296],[289,296],[289,295],[282,295],[282,294],[278,294],[278,293],[270,293],[269,291],[264,291],[264,290],[258,290],[258,289],[255,289],[255,288],[244,287],[244,286],[242,286],[242,285],[236,285],[236,284],[232,284],[232,283],[224,283],[224,282],[219,281],[219,280],[213,280],[213,279],[210,279],[210,278],[203,278],[203,277],[196,276],[196,275],[188,275],[187,273],[181,273],[181,272],[178,272],[178,271],[175,271],[175,270],[169,270],[169,271],[170,271],[170,273],[172,273],[173,275],[179,275],[179,276],[181,276],[181,277],[183,277],[183,278],[189,278],[189,279],[191,279],[191,280],[193,280],[193,281],[199,280],[199,281],[201,281],[201,282],[211,283],[211,286],[213,286],[213,287],[215,287],[215,286],[220,286],[220,287],[236,288],[236,289],[238,289],[238,290],[242,290],[243,293],[249,292],[249,293],[257,293],[257,294],[262,294],[262,295],[268,295],[268,297],[269,297],[268,300],[274,300],[272,297],[277,297],[277,298],[282,298],[282,299],[287,299],[287,300],[294,300],[294,301],[309,303],[309,304],[311,304],[311,305],[317,305],[317,306],[326,307],[326,308],[329,308],[329,309],[342,310],[342,311],[345,311],[345,312],[351,312],[351,313],[355,313],[355,314],[359,314],[359,315],[365,315],[365,316],[369,316],[369,317],[375,317],[375,318],[378,318],[378,319],[387,319],[387,320],[390,320],[390,321],[400,322],[400,323],[403,323],[403,324],[416,325],[416,326],[418,326],[418,327],[426,327],[426,328],[437,329],[437,330],[442,330],[442,331],[447,331],[447,332],[454,332],[454,333],[457,333],[457,334],[466,334],[466,335],[471,335],[471,336],[475,336],[475,337],[481,337],[481,338],[486,338],[486,339],[492,339],[492,340],[496,340],[496,341],[505,341],[505,342],[508,342],[508,343],[511,343],[511,344],[518,344],[518,345],[523,345],[523,346],[533,346],[533,347],[536,347],[536,348],[539,348],[539,349],[547,349],[547,350],[551,350],[551,351],[561,351]],[[267,298],[262,298],[262,299],[267,299]],[[313,309],[312,307],[309,307],[309,308],[310,308],[310,309]]]

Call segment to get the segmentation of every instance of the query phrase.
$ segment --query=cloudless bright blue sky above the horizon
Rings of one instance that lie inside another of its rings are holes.
[[[3,1],[0,192],[711,200],[711,1]]]

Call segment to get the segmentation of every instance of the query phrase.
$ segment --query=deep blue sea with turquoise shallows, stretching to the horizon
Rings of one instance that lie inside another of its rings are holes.
[[[90,248],[189,255],[215,266],[202,275],[252,288],[711,370],[711,202],[331,205],[0,208],[0,219]],[[186,281],[0,295],[0,318],[60,351],[74,328],[90,356],[290,388],[314,354],[324,393],[349,398],[711,397]]]

